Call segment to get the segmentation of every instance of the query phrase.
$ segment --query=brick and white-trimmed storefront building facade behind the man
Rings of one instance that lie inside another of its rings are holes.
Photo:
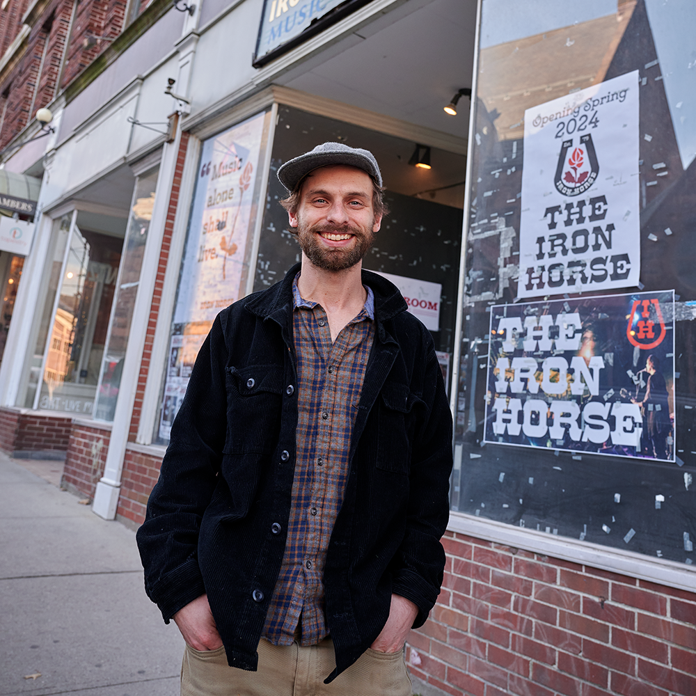
[[[688,696],[696,13],[530,6],[6,1],[3,170],[35,183],[0,252],[0,448],[138,525],[216,313],[299,258],[278,167],[370,149],[365,267],[432,331],[455,418],[414,691]]]

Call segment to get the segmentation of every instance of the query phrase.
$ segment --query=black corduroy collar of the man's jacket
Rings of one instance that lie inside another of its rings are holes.
[[[285,326],[287,317],[292,315],[292,281],[300,269],[301,264],[294,264],[280,283],[250,299],[248,310],[263,319],[274,319],[280,326]],[[401,292],[390,280],[365,269],[362,271],[362,280],[363,285],[368,285],[374,292],[374,319],[378,326],[408,309]]]

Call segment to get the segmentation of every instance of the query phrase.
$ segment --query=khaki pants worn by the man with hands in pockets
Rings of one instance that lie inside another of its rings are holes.
[[[258,672],[230,667],[223,647],[211,651],[187,645],[181,668],[182,696],[411,696],[411,679],[402,652],[367,649],[331,683],[335,668],[331,638],[302,647],[258,646]]]

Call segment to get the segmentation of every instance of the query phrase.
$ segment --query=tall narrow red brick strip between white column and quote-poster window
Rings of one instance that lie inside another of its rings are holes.
[[[145,345],[143,346],[143,358],[140,363],[140,374],[138,376],[138,386],[136,388],[135,401],[133,404],[133,415],[130,423],[128,435],[129,442],[135,442],[140,425],[140,416],[143,411],[143,395],[145,394],[145,382],[148,379],[150,370],[150,359],[152,358],[152,342],[155,340],[155,329],[157,328],[157,317],[159,316],[159,305],[162,299],[162,287],[164,286],[164,274],[167,269],[169,259],[169,249],[171,247],[172,233],[174,230],[174,219],[176,217],[177,205],[179,204],[179,193],[181,187],[181,177],[184,173],[184,160],[189,144],[189,134],[182,133],[179,144],[179,152],[174,168],[174,179],[169,196],[169,206],[167,208],[166,221],[164,223],[164,235],[162,246],[159,253],[159,264],[157,265],[157,277],[155,278],[155,290],[152,292],[152,305],[150,306],[150,318],[148,319],[148,331],[145,334]],[[159,188],[159,185],[158,185]],[[159,367],[158,367],[159,369]]]

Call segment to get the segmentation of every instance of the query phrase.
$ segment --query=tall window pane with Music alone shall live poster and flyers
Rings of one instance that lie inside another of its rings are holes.
[[[266,116],[258,113],[201,148],[159,419],[163,439],[213,319],[243,292]]]

